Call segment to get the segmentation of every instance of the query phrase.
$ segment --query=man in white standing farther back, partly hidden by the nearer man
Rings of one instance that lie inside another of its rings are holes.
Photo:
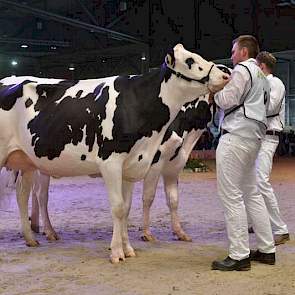
[[[280,245],[288,241],[290,236],[287,225],[281,218],[278,201],[269,178],[273,156],[279,144],[279,135],[285,125],[285,86],[279,78],[272,75],[276,58],[271,53],[260,52],[256,61],[270,83],[267,131],[256,160],[257,183],[269,213],[275,245]]]

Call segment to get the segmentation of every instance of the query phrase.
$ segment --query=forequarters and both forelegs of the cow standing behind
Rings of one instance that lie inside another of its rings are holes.
[[[224,65],[217,65],[220,70],[230,75]],[[172,230],[181,241],[191,241],[191,237],[182,229],[178,216],[178,178],[197,141],[207,128],[214,124],[216,105],[209,102],[209,94],[186,103],[168,127],[162,143],[154,157],[151,168],[143,184],[143,240],[154,241],[150,232],[150,208],[154,201],[160,176],[164,181],[166,202],[170,210]],[[212,119],[212,120],[211,120]]]

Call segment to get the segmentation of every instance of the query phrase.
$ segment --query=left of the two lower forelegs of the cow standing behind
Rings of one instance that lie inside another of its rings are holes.
[[[151,168],[143,182],[143,235],[141,238],[144,241],[157,240],[150,231],[150,209],[156,195],[159,178],[160,173]]]

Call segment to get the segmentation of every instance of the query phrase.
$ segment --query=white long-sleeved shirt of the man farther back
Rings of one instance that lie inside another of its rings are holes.
[[[267,76],[270,83],[270,102],[268,115],[276,115],[267,119],[267,129],[282,131],[285,126],[285,86],[283,82],[272,74]]]

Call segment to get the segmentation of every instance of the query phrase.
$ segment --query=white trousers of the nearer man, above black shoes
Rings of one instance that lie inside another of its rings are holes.
[[[269,215],[256,182],[255,160],[260,145],[259,140],[228,133],[220,138],[216,151],[217,191],[224,207],[229,257],[235,260],[250,253],[246,209],[258,249],[275,252]]]

